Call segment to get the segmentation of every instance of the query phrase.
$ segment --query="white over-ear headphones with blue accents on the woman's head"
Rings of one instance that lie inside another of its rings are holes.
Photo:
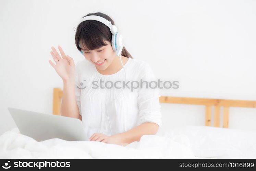
[[[77,26],[80,23],[82,23],[83,21],[86,21],[86,20],[96,20],[96,21],[99,21],[99,22],[101,22],[101,23],[103,23],[103,24],[105,24],[106,26],[109,27],[109,29],[110,29],[110,31],[112,33],[112,39],[111,39],[112,49],[116,52],[116,55],[119,56],[121,54],[121,52],[122,52],[124,44],[123,44],[123,36],[121,35],[121,33],[118,32],[117,27],[115,25],[111,24],[110,20],[108,21],[105,18],[103,18],[101,16],[97,16],[97,15],[88,15],[88,16],[83,17],[79,21]],[[76,28],[77,28],[77,26],[76,26]],[[81,47],[80,44],[79,44],[79,47]],[[81,51],[81,53],[83,54],[82,51]]]

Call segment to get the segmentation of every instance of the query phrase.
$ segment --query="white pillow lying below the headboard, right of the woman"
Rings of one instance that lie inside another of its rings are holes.
[[[256,158],[256,131],[212,126],[179,126],[162,130],[157,135],[174,137],[185,135],[197,157]]]

